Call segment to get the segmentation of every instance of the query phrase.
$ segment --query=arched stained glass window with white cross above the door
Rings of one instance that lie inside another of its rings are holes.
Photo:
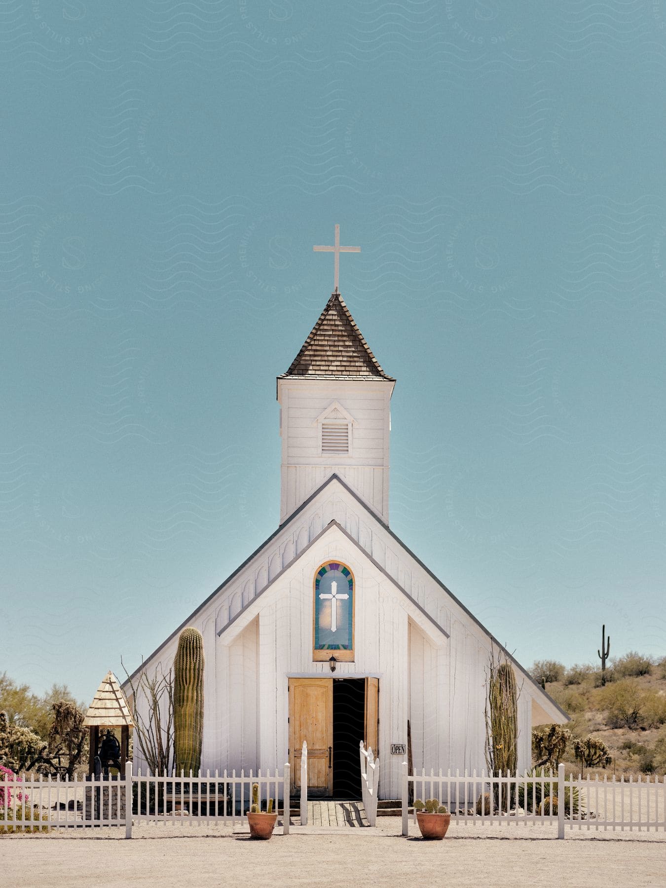
[[[326,561],[314,575],[313,659],[353,660],[354,579],[341,561]]]

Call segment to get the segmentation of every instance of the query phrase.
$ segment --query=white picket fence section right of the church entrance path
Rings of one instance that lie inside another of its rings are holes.
[[[597,777],[565,775],[564,765],[557,773],[539,776],[509,774],[488,776],[484,771],[460,774],[408,773],[402,764],[402,835],[408,836],[409,822],[416,823],[416,811],[408,805],[409,785],[414,798],[437,798],[448,806],[455,823],[527,826],[557,824],[558,838],[566,829],[599,832],[666,829],[666,777],[640,775],[634,781],[602,781]],[[559,805],[558,800],[564,799]],[[554,800],[554,801],[553,801]]]

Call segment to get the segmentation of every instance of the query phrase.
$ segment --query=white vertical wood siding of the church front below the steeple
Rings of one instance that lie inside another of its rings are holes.
[[[333,520],[395,577],[407,596],[330,525]],[[490,638],[337,480],[187,621],[202,631],[206,656],[202,767],[274,768],[287,760],[288,676],[330,674],[328,662],[312,662],[313,572],[327,558],[348,563],[357,584],[356,662],[339,663],[336,674],[380,679],[380,797],[399,795],[400,758],[391,756],[390,745],[407,742],[408,718],[416,766],[421,757],[428,768],[480,770],[485,765]],[[271,576],[278,579],[257,598]],[[438,637],[412,600],[450,633],[448,640]],[[242,607],[247,611],[241,613]],[[160,648],[146,668],[163,662],[169,669],[177,640]],[[524,767],[530,756],[532,700],[539,702],[541,713],[551,713],[551,720],[564,719],[527,676],[517,673],[522,685],[519,766]]]

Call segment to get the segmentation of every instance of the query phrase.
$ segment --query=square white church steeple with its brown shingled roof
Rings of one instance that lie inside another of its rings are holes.
[[[334,292],[289,369],[277,378],[281,521],[335,473],[388,523],[394,385]]]

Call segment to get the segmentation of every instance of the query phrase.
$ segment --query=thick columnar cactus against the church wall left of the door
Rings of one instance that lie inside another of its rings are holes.
[[[203,733],[203,638],[184,629],[173,661],[173,721],[176,773],[199,773]]]

